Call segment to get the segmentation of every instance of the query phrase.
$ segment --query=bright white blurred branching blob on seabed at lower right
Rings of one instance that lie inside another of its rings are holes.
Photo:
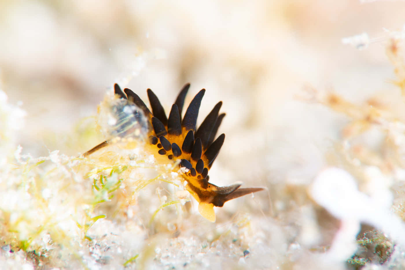
[[[358,191],[356,180],[347,171],[325,169],[315,178],[309,192],[318,204],[342,221],[329,252],[335,259],[345,260],[356,251],[360,223],[382,230],[405,246],[405,224],[390,211],[386,199],[381,201]]]

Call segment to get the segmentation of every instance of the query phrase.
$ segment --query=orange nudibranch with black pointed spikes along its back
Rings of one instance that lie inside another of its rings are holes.
[[[224,143],[225,134],[222,133],[216,139],[215,136],[225,114],[219,114],[222,106],[220,101],[197,129],[197,116],[205,89],[194,96],[182,117],[184,100],[189,88],[190,84],[183,86],[168,117],[158,97],[150,89],[147,89],[147,95],[151,111],[132,90],[125,88],[122,91],[118,84],[115,84],[114,92],[119,99],[126,99],[143,111],[151,126],[147,143],[153,147],[155,154],[179,161],[179,166],[188,170],[181,175],[187,182],[185,188],[198,201],[200,214],[215,222],[214,206],[222,207],[230,199],[262,191],[264,188],[240,188],[241,182],[229,186],[216,186],[208,182],[208,171]],[[137,113],[139,112],[134,111],[134,114]],[[88,156],[108,144],[108,141],[104,141],[83,156]]]

